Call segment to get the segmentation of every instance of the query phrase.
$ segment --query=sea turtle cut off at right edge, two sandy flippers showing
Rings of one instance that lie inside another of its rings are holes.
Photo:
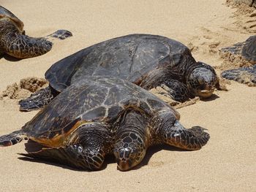
[[[232,47],[225,47],[221,51],[241,55],[246,61],[254,65],[225,70],[221,74],[222,77],[249,85],[256,85],[256,35],[249,37],[245,42],[238,42]]]

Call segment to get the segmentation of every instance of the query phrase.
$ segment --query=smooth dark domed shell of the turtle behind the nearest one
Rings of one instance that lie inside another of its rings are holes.
[[[120,77],[139,85],[146,74],[157,68],[170,69],[177,80],[185,78],[186,65],[191,64],[197,65],[181,42],[157,35],[131,34],[69,55],[53,64],[45,78],[59,92],[87,75]]]

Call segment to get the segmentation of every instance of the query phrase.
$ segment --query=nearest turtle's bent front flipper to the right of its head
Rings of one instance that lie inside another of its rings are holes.
[[[199,150],[210,139],[210,135],[205,132],[206,128],[200,126],[184,128],[174,118],[173,112],[161,112],[154,118],[153,123],[157,123],[157,134],[163,143],[184,150]]]

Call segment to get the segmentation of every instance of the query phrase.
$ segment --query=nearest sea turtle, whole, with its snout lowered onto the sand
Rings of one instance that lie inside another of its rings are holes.
[[[62,91],[20,131],[0,137],[1,146],[29,138],[44,145],[23,154],[78,169],[98,170],[105,155],[118,169],[140,164],[151,145],[166,143],[199,150],[204,128],[184,128],[176,110],[148,91],[115,77],[84,77]]]

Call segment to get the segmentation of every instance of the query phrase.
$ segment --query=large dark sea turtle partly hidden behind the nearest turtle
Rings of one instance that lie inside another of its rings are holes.
[[[176,101],[209,97],[218,86],[214,69],[196,62],[189,48],[167,37],[130,34],[78,51],[56,62],[45,73],[50,86],[20,101],[20,110],[42,108],[73,81],[109,75],[146,90],[162,86]]]

